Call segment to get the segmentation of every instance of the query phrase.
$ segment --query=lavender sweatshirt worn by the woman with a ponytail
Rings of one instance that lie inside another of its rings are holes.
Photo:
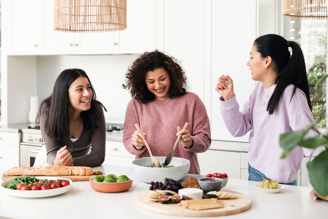
[[[283,152],[279,144],[280,134],[303,129],[314,123],[314,119],[305,94],[300,89],[296,89],[291,99],[294,89],[292,84],[286,87],[274,113],[269,115],[266,111],[267,103],[276,86],[275,84],[264,89],[262,82],[258,81],[241,112],[236,95],[227,101],[221,97],[220,109],[224,123],[234,137],[244,136],[251,130],[248,148],[249,164],[270,179],[291,183],[297,177],[303,155],[310,159],[313,152],[312,160],[325,148],[321,146],[313,150],[297,146],[287,158],[280,159]],[[263,107],[264,101],[266,104]],[[310,130],[306,137],[314,135],[316,132]]]

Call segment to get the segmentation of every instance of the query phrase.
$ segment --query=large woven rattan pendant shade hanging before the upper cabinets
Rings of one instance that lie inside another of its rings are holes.
[[[54,30],[72,33],[126,29],[126,0],[54,0]]]

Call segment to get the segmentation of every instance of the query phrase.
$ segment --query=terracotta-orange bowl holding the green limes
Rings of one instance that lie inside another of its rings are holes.
[[[94,176],[95,177],[95,176]],[[98,192],[122,192],[125,190],[128,190],[129,188],[131,188],[132,186],[132,178],[130,178],[129,181],[126,182],[121,182],[121,183],[102,183],[102,182],[95,182],[92,181],[92,178],[90,178],[90,186],[91,188],[93,188],[94,190],[98,191]]]

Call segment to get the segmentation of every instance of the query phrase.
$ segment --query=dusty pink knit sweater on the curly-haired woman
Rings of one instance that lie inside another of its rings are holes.
[[[131,141],[131,135],[138,123],[153,156],[165,156],[173,149],[176,141],[177,126],[181,128],[188,122],[186,128],[191,134],[193,146],[188,149],[178,142],[174,157],[190,161],[190,174],[200,174],[197,153],[205,152],[211,144],[210,121],[201,99],[194,93],[186,93],[174,99],[152,100],[148,103],[132,99],[125,114],[123,128],[123,143],[126,149],[135,155],[135,159],[150,157],[146,146],[137,150]]]

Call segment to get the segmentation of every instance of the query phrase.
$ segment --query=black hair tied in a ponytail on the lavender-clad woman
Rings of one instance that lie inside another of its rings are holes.
[[[288,50],[289,46],[293,51],[292,56]],[[277,84],[276,89],[267,105],[269,114],[273,114],[282,93],[289,84],[295,86],[292,98],[296,88],[301,89],[306,96],[310,110],[312,110],[305,61],[300,46],[296,42],[287,41],[277,34],[267,34],[258,37],[254,41],[254,47],[261,54],[262,58],[271,57],[274,63],[274,70],[278,73],[275,81]]]

